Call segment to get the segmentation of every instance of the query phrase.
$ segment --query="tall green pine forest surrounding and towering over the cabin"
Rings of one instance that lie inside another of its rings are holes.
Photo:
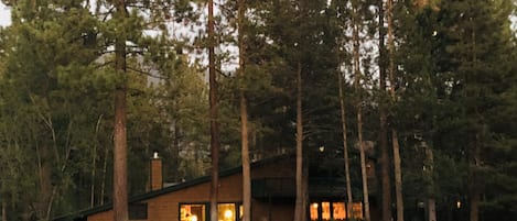
[[[2,2],[2,221],[123,203],[153,152],[179,183],[322,150],[365,206],[376,159],[383,221],[517,219],[516,0]]]

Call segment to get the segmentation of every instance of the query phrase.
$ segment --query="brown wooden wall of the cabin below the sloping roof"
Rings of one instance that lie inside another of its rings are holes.
[[[280,162],[259,165],[251,170],[252,178],[294,177],[294,161],[287,158]],[[181,203],[209,202],[211,183],[203,183],[142,201],[148,205],[148,219],[141,221],[179,221]],[[243,175],[236,173],[219,177],[219,202],[243,201]],[[252,200],[251,213],[256,221],[293,220],[293,202],[269,202]],[[209,217],[209,214],[207,214]],[[88,221],[112,221],[112,210],[90,214]]]

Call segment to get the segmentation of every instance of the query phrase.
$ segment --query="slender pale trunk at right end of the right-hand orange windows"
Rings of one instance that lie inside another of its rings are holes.
[[[360,68],[359,68],[359,16],[358,5],[354,5],[353,15],[353,42],[354,42],[354,75],[355,75],[355,89],[357,91],[357,142],[359,145],[359,157],[360,157],[360,174],[363,178],[363,200],[365,203],[365,221],[370,221],[369,214],[369,199],[368,199],[368,178],[366,174],[366,156],[365,146],[363,142],[363,99],[360,96]]]

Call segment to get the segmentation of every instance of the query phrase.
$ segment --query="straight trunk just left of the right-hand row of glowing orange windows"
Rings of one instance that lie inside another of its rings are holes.
[[[298,62],[297,69],[297,201],[294,221],[305,221],[305,206],[303,191],[303,122],[302,122],[302,64]]]

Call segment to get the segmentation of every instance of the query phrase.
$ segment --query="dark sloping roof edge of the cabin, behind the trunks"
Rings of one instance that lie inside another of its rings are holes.
[[[277,162],[277,161],[281,161],[283,158],[288,158],[290,156],[291,156],[290,154],[287,154],[287,155],[278,155],[278,156],[273,156],[273,157],[270,157],[270,158],[261,159],[261,161],[251,163],[250,167],[262,166],[262,165],[269,164],[271,162]],[[243,166],[239,165],[239,166],[236,166],[236,167],[228,168],[228,169],[219,172],[219,177],[228,177],[228,176],[241,173],[241,172],[243,172]],[[139,202],[139,201],[143,201],[143,200],[152,199],[154,197],[163,196],[163,195],[174,192],[174,191],[177,191],[177,190],[182,190],[182,189],[185,189],[185,188],[189,188],[189,187],[193,187],[193,186],[196,186],[196,185],[209,183],[211,180],[212,180],[212,177],[209,175],[198,177],[198,178],[194,178],[194,179],[183,181],[183,183],[170,186],[170,187],[164,187],[164,188],[159,189],[159,190],[153,190],[153,191],[149,191],[149,192],[146,192],[146,194],[141,194],[141,195],[130,197],[128,199],[128,202],[132,203],[132,202]],[[52,220],[53,221],[86,220],[86,218],[88,216],[95,214],[95,213],[98,213],[98,212],[108,211],[108,210],[112,209],[112,207],[114,207],[112,202],[108,202],[108,203],[105,203],[105,205],[101,205],[101,206],[98,206],[98,207],[94,207],[94,208],[90,208],[90,209],[86,209],[86,210],[82,210],[82,211],[77,211],[77,212],[72,212],[72,213],[68,213],[68,214],[63,214],[63,216],[53,218]]]

